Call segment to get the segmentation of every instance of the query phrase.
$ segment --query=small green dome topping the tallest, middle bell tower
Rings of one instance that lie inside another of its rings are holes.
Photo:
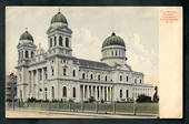
[[[60,11],[52,18],[51,23],[53,22],[68,23],[66,17]]]

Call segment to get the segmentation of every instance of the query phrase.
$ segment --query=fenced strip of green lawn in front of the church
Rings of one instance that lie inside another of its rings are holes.
[[[7,107],[13,104],[7,102]],[[84,112],[103,114],[158,115],[158,103],[69,103],[69,102],[14,102],[16,108],[43,111]]]

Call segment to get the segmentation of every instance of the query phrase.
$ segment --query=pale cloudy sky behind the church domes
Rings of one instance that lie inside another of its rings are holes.
[[[145,83],[158,83],[158,8],[152,7],[7,7],[6,74],[17,72],[17,44],[26,29],[47,50],[46,32],[59,10],[73,32],[73,56],[100,61],[102,42],[115,31],[125,40],[127,63],[145,73]]]

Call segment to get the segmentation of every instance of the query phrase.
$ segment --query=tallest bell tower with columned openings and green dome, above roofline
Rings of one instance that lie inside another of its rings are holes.
[[[71,33],[66,17],[59,11],[52,19],[47,31],[49,54],[72,55]]]

